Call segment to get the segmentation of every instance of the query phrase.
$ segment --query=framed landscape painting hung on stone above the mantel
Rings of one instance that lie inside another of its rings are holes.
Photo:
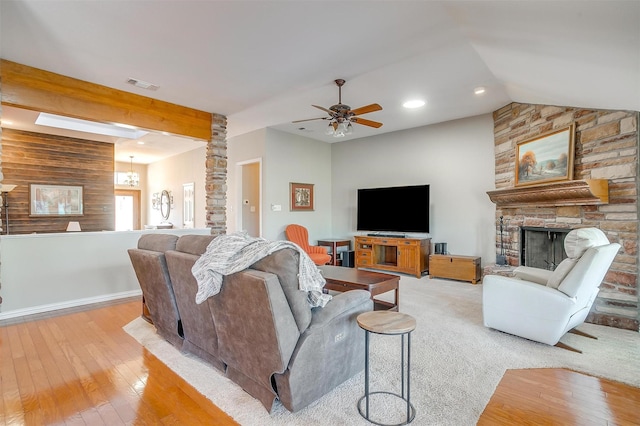
[[[518,143],[515,186],[573,179],[574,138],[572,124]]]

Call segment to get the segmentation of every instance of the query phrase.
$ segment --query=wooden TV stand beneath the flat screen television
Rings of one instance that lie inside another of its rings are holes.
[[[420,278],[429,269],[431,238],[355,237],[356,268],[403,272]]]

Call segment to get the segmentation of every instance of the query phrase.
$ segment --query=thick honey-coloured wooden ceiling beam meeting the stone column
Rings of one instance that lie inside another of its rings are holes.
[[[211,140],[211,114],[0,60],[2,103]]]

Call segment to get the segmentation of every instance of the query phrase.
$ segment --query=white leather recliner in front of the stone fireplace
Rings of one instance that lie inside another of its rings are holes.
[[[564,248],[568,258],[555,271],[520,266],[514,278],[485,276],[484,325],[580,352],[558,341],[586,319],[620,244],[597,228],[581,228],[567,234]]]

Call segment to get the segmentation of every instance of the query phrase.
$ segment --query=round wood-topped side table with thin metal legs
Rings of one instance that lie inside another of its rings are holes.
[[[358,325],[365,331],[364,354],[364,396],[358,400],[360,415],[369,422],[380,426],[406,425],[416,417],[416,409],[411,404],[411,332],[416,328],[416,320],[411,315],[391,311],[371,311],[358,315]],[[387,391],[371,392],[369,389],[369,334],[400,335],[401,336],[401,393]],[[405,351],[406,336],[406,351]],[[405,359],[406,358],[406,359]],[[405,362],[406,361],[406,362]],[[406,381],[405,381],[406,377]],[[375,394],[387,394],[398,397],[407,403],[406,421],[396,424],[380,423],[371,419],[369,411],[369,398]],[[364,404],[363,404],[364,403]],[[363,408],[364,405],[364,408]]]

